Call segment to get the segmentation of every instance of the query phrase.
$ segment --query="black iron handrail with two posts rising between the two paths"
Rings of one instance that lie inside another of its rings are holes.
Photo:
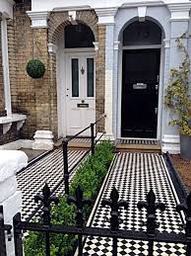
[[[68,142],[71,141],[72,139],[78,137],[79,135],[81,135],[83,132],[85,132],[86,130],[90,129],[90,134],[91,134],[91,147],[90,149],[87,151],[86,155],[89,154],[90,152],[92,152],[92,154],[95,154],[95,146],[96,143],[100,140],[100,138],[102,137],[102,135],[104,134],[104,132],[102,132],[102,134],[100,135],[100,137],[96,140],[95,139],[95,127],[96,124],[98,122],[100,122],[102,119],[104,119],[106,117],[106,115],[101,116],[95,123],[92,123],[89,127],[87,128],[83,128],[81,131],[79,131],[78,133],[76,133],[75,135],[68,137],[68,138],[64,138],[62,141],[62,147],[63,147],[63,161],[64,161],[64,185],[65,185],[65,194],[69,195],[69,169],[68,169]],[[85,155],[85,156],[86,156]],[[81,161],[82,159],[80,159]],[[80,161],[78,161],[75,165],[75,167],[80,163]],[[74,169],[74,167],[73,167]],[[72,170],[70,170],[71,172]]]

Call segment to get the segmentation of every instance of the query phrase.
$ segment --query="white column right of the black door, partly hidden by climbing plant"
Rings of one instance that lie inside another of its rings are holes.
[[[179,64],[183,60],[183,54],[179,50],[175,40],[181,37],[184,33],[188,32],[189,25],[189,12],[191,9],[191,3],[176,3],[167,5],[170,11],[170,36],[169,39],[164,40],[165,47],[165,65],[164,65],[164,86],[163,94],[165,95],[165,89],[169,83],[170,69],[178,68]],[[188,40],[183,39],[183,43],[187,46]],[[162,151],[169,151],[170,153],[179,152],[179,132],[178,128],[170,127],[168,124],[172,120],[168,111],[162,112],[162,128],[161,128],[161,140]]]

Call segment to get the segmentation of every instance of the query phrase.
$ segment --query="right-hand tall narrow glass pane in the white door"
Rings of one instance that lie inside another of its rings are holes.
[[[95,68],[94,58],[87,58],[87,91],[88,97],[95,96]]]

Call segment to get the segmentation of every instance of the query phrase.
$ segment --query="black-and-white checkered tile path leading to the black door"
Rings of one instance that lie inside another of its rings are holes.
[[[175,212],[179,203],[175,191],[170,184],[169,176],[164,166],[162,156],[151,153],[118,153],[117,160],[108,177],[106,186],[96,209],[92,225],[95,227],[109,227],[108,216],[110,209],[102,208],[100,202],[103,198],[109,199],[112,188],[119,192],[122,200],[129,202],[127,211],[120,211],[121,229],[146,230],[146,211],[139,212],[137,203],[146,200],[146,195],[153,189],[157,202],[165,204],[164,213],[158,213],[159,231],[176,234],[183,232],[182,219]],[[112,255],[112,241],[110,238],[89,236],[84,247],[84,255]],[[144,241],[118,239],[118,255],[148,255],[148,244]],[[182,244],[155,243],[154,255],[185,256]]]

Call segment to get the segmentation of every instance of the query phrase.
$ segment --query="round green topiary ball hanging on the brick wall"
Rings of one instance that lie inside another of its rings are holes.
[[[26,70],[34,79],[41,78],[45,72],[45,66],[39,59],[32,59],[28,62]]]

